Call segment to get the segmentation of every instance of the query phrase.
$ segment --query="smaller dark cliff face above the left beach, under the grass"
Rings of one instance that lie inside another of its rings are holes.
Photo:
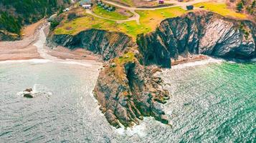
[[[123,33],[97,29],[82,31],[75,36],[67,34],[52,35],[47,41],[70,49],[77,47],[85,48],[93,51],[95,54],[100,54],[105,61],[123,54],[127,47],[136,45],[131,37]]]

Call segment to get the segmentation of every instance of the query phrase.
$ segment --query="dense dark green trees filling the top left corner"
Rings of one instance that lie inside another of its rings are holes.
[[[67,4],[70,0],[1,0],[0,30],[20,34],[22,26],[50,16]]]

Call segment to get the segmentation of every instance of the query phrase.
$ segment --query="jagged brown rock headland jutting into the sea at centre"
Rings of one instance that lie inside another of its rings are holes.
[[[169,92],[161,86],[162,79],[138,61],[138,55],[127,54],[110,60],[100,71],[94,89],[95,98],[108,122],[114,127],[139,124],[138,119],[154,117],[168,124],[160,103],[166,103]],[[156,71],[156,70],[155,70]]]

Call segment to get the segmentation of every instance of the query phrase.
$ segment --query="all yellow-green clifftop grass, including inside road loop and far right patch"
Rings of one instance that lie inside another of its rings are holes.
[[[200,6],[204,6],[204,10],[213,11],[222,16],[232,17],[234,19],[247,19],[246,14],[240,14],[232,9],[228,9],[226,4],[206,2],[194,4],[194,6],[196,9],[199,9]],[[126,13],[129,12],[128,9],[125,10]],[[122,15],[122,13],[118,13],[117,11],[108,12],[97,6],[93,7],[93,12],[98,16],[88,14],[84,9],[78,7],[67,12],[67,14],[63,14],[63,19],[60,21],[60,25],[54,29],[54,34],[75,35],[80,33],[80,31],[85,31],[87,29],[100,29],[123,32],[124,34],[131,36],[133,41],[136,41],[136,36],[138,34],[146,34],[155,31],[156,26],[158,26],[164,19],[181,16],[187,11],[180,6],[155,10],[138,9],[135,12],[139,15],[139,23],[135,19],[129,20],[129,17],[131,16],[128,17],[125,14]],[[69,13],[79,14],[79,16],[77,19],[70,21],[67,19]]]

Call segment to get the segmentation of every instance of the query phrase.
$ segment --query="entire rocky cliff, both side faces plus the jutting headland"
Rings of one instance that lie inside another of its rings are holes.
[[[207,54],[227,59],[256,55],[256,26],[207,11],[190,12],[161,22],[156,31],[141,34],[137,43],[125,34],[96,29],[75,36],[52,35],[49,43],[71,49],[84,47],[107,61],[100,70],[94,95],[106,119],[115,127],[131,127],[143,117],[168,124],[161,104],[169,99],[151,64],[171,67],[171,58]]]

